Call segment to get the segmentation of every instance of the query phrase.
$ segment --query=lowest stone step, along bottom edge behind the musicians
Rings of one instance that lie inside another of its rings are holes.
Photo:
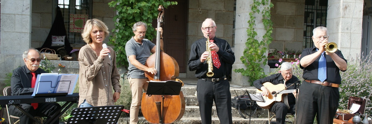
[[[232,118],[233,124],[265,124],[267,118]],[[201,124],[200,117],[183,117],[174,124]],[[119,118],[118,124],[129,124],[129,117]],[[138,124],[150,124],[144,117],[138,117]],[[212,124],[220,124],[217,117],[212,117]]]

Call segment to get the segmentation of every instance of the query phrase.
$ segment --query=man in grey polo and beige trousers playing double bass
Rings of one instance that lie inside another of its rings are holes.
[[[141,97],[144,90],[146,92],[148,80],[145,77],[144,71],[155,74],[157,71],[153,67],[147,67],[144,64],[151,53],[155,53],[156,45],[150,40],[145,39],[147,24],[144,22],[137,22],[132,27],[134,36],[126,42],[125,51],[128,57],[129,67],[127,79],[132,90],[132,104],[130,108],[129,124],[138,123],[138,111],[141,106]],[[163,48],[163,29],[160,31],[160,47]]]

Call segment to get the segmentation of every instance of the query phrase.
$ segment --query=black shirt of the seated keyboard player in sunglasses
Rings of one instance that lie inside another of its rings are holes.
[[[38,68],[35,71],[35,76],[38,77],[38,74],[41,73],[47,72]],[[12,95],[31,95],[34,89],[31,88],[31,78],[31,71],[27,68],[26,65],[13,70],[12,79],[10,80]]]

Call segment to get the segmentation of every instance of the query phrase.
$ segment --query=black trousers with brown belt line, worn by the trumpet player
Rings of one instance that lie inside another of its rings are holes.
[[[296,124],[332,124],[339,107],[339,88],[303,81],[298,93]]]

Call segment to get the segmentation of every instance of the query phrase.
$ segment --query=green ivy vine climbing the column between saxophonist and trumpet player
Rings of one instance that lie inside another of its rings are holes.
[[[262,12],[259,10],[261,6],[266,6],[263,8]],[[261,65],[266,65],[267,63],[267,55],[265,54],[267,50],[266,46],[273,40],[271,37],[273,22],[270,20],[270,8],[273,6],[274,5],[269,0],[253,0],[253,4],[251,4],[252,12],[249,13],[250,20],[248,20],[249,26],[247,29],[248,39],[245,43],[246,48],[244,49],[243,56],[240,57],[240,60],[247,68],[234,70],[235,72],[241,73],[243,76],[249,77],[249,82],[253,82],[265,76]],[[263,35],[262,41],[256,39],[257,32],[254,31],[256,17],[254,15],[262,15],[263,18],[262,22],[266,33]]]

